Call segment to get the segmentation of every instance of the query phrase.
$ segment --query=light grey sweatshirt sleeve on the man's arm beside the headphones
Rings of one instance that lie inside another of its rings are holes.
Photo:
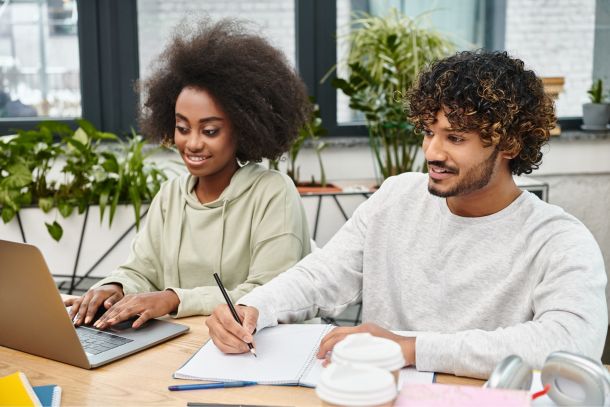
[[[599,360],[608,325],[603,258],[592,237],[563,234],[557,240],[561,245],[542,253],[532,321],[493,331],[422,333],[416,339],[417,369],[487,378],[511,354],[536,369],[558,350]]]

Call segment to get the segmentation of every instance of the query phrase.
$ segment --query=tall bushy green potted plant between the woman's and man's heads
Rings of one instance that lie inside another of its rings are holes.
[[[451,54],[453,43],[423,28],[396,9],[385,17],[358,13],[351,22],[349,75],[332,85],[350,99],[350,108],[362,112],[381,180],[407,171],[420,171],[417,162],[422,136],[406,119],[403,98],[419,71]]]

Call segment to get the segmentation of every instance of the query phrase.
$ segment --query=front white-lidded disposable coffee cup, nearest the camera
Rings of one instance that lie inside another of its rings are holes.
[[[392,375],[365,365],[330,364],[320,375],[316,394],[325,406],[391,406],[397,390]]]

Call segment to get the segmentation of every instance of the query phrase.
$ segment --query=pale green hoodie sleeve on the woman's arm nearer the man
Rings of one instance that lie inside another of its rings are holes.
[[[275,179],[277,182],[277,178]],[[290,181],[292,182],[292,181]],[[278,188],[278,185],[282,185]],[[294,266],[310,251],[309,232],[300,197],[294,185],[286,186],[277,183],[259,185],[262,188],[259,196],[263,197],[258,209],[252,215],[258,222],[253,225],[250,265],[245,281],[233,288],[227,286],[227,292],[234,303],[254,288],[271,281],[278,274]],[[227,244],[227,243],[225,243]],[[231,270],[222,270],[230,273]],[[230,277],[227,277],[230,280]],[[209,315],[225,300],[216,285],[196,288],[171,289],[180,298],[175,317],[190,315]]]

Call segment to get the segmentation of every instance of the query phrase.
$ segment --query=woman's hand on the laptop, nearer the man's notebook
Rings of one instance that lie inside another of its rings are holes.
[[[151,318],[161,317],[174,312],[180,305],[178,295],[172,290],[152,293],[129,294],[111,306],[94,327],[106,329],[134,316],[138,316],[132,328],[139,328]]]

